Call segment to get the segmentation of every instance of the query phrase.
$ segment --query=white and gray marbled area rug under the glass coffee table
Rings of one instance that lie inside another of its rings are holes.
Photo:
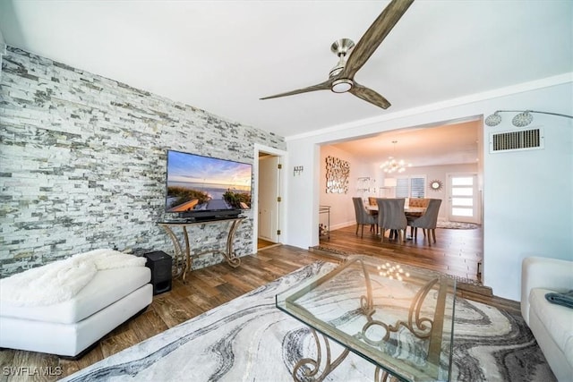
[[[312,356],[311,333],[275,307],[275,295],[336,267],[316,262],[201,316],[81,369],[65,381],[292,381]],[[522,318],[456,300],[454,381],[553,381]],[[331,344],[333,357],[342,348]],[[327,381],[372,381],[374,367],[350,353]]]

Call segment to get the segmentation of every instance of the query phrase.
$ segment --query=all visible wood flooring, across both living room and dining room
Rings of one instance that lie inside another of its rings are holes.
[[[465,261],[454,261],[449,259],[456,250],[447,250],[449,247],[470,248],[470,246],[460,246],[458,242],[475,242],[468,233],[461,233],[458,238],[449,233],[437,233],[439,242],[450,242],[449,245],[423,245],[418,238],[416,243],[406,243],[406,246],[394,248],[397,244],[385,243],[384,253],[394,254],[393,259],[400,259],[408,264],[424,264],[428,267],[459,270],[461,264]],[[348,243],[344,244],[343,239],[346,237]],[[374,238],[367,237],[364,234],[363,240],[355,238],[354,228],[345,228],[335,231],[331,234],[328,242],[331,247],[337,247],[338,250],[348,252],[368,253],[369,248],[376,248],[378,243]],[[477,244],[474,244],[475,246]],[[388,247],[388,248],[387,248]],[[411,253],[408,255],[408,248]],[[439,248],[442,248],[439,250]],[[381,256],[374,250],[374,256]],[[433,253],[433,255],[431,255]],[[458,253],[459,254],[459,253]],[[463,255],[463,256],[462,256]],[[435,263],[432,264],[432,256],[435,256]],[[460,254],[461,258],[466,255]],[[468,259],[475,259],[475,254],[468,255]],[[291,246],[271,246],[267,249],[260,250],[256,255],[245,256],[242,258],[241,267],[231,268],[227,263],[221,263],[212,267],[192,271],[187,282],[183,284],[175,280],[173,290],[168,293],[162,293],[154,297],[148,310],[141,316],[134,318],[128,323],[117,327],[113,332],[106,335],[97,346],[88,352],[78,361],[68,361],[59,359],[55,355],[43,354],[38,352],[23,352],[4,349],[0,351],[0,369],[4,368],[51,368],[52,371],[61,368],[60,376],[48,376],[40,378],[16,378],[13,376],[4,376],[2,380],[56,380],[68,376],[73,372],[83,369],[90,364],[102,360],[115,352],[150,338],[153,335],[161,333],[169,327],[175,327],[189,318],[196,317],[201,313],[213,309],[227,301],[234,299],[244,293],[269,283],[280,276],[284,276],[299,267],[310,264],[316,260],[326,260],[338,262],[339,258],[323,250],[301,250]],[[471,273],[471,267],[467,267],[467,272]],[[506,301],[496,297],[487,296],[484,293],[474,293],[470,291],[460,291],[458,295],[468,299],[490,303],[501,309],[518,312],[519,305],[515,301]],[[25,334],[22,334],[25,335]]]

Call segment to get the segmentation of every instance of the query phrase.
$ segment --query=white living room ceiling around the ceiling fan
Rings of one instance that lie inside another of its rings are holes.
[[[331,43],[357,42],[386,4],[0,0],[0,30],[13,47],[286,138],[573,71],[573,1],[417,0],[355,76],[388,110],[328,90],[259,99],[325,81]]]

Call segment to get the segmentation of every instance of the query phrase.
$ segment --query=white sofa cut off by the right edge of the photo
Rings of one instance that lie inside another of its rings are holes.
[[[531,257],[521,269],[521,314],[561,382],[573,380],[573,309],[547,301],[547,293],[573,290],[573,261]]]

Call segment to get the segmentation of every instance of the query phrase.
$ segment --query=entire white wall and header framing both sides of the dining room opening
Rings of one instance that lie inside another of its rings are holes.
[[[316,135],[287,138],[289,157],[314,173],[290,183],[293,214],[286,243],[307,248],[318,244],[317,145],[334,140],[441,123],[496,110],[540,110],[573,115],[573,74],[535,81],[487,94],[459,98],[392,114],[363,123],[334,126]],[[573,120],[535,114],[533,125],[545,129],[545,149],[490,154],[490,132],[512,130],[504,123],[483,129],[483,280],[493,293],[519,300],[521,261],[530,255],[573,259]],[[304,182],[307,181],[307,182]],[[312,185],[312,186],[311,186]],[[314,195],[314,196],[312,196]]]

